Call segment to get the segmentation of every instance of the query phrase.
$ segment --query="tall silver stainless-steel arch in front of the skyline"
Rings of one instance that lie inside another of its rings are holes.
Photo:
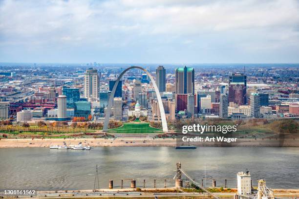
[[[103,132],[107,132],[108,131],[108,123],[109,123],[109,116],[110,116],[110,112],[111,112],[111,107],[112,107],[112,103],[113,103],[113,97],[114,97],[114,94],[115,94],[115,91],[116,91],[116,87],[117,87],[117,84],[118,82],[121,80],[121,78],[123,77],[123,75],[130,69],[133,69],[133,68],[137,68],[137,69],[140,69],[140,70],[143,70],[144,72],[146,72],[146,74],[149,76],[153,86],[154,86],[154,89],[155,89],[155,92],[156,92],[156,95],[157,95],[157,99],[158,99],[158,104],[159,104],[159,109],[160,109],[160,116],[161,116],[161,120],[162,120],[162,128],[163,128],[163,132],[167,133],[168,132],[168,127],[167,127],[167,122],[166,122],[166,117],[165,117],[165,112],[164,112],[164,107],[163,107],[163,103],[162,103],[162,99],[161,99],[161,95],[160,95],[160,92],[158,90],[158,87],[157,87],[157,84],[155,82],[155,80],[153,79],[153,77],[149,74],[149,72],[140,67],[140,66],[131,66],[131,67],[128,67],[126,70],[124,70],[120,76],[117,78],[117,80],[115,81],[114,83],[114,86],[113,86],[113,89],[112,89],[112,92],[111,92],[111,95],[110,95],[110,98],[109,98],[109,102],[108,102],[108,106],[107,106],[107,111],[106,111],[106,116],[105,116],[105,120],[104,120],[104,127],[103,127]]]

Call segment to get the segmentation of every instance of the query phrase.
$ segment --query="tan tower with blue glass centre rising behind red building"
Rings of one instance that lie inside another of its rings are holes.
[[[175,69],[176,94],[194,95],[194,69],[190,67]]]

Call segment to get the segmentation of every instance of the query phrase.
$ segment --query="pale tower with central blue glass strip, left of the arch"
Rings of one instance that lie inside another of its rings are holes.
[[[99,76],[98,71],[93,68],[89,68],[85,72],[84,79],[84,96],[88,100],[97,100],[99,98]]]

